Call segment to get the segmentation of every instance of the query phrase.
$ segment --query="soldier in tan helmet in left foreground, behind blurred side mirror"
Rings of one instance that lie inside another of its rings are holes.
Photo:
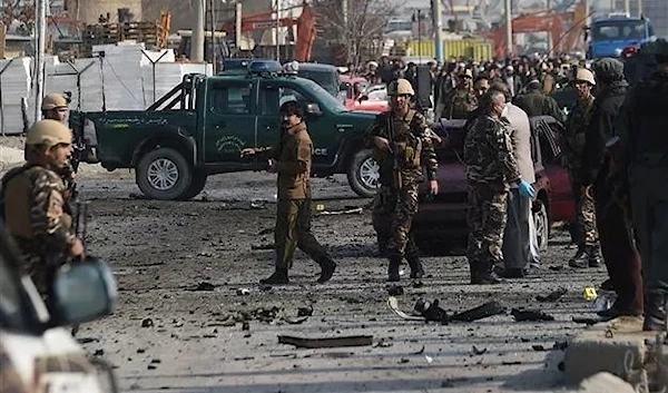
[[[40,294],[50,298],[56,269],[81,258],[84,246],[66,213],[66,191],[56,170],[70,158],[72,134],[56,120],[36,122],[26,136],[26,165],[2,178],[6,225]]]

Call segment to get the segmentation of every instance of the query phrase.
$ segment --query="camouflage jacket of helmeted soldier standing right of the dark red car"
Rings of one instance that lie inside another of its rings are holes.
[[[593,96],[584,101],[578,100],[568,116],[563,138],[563,155],[566,165],[570,169],[579,169],[581,166],[584,137],[591,117],[591,109],[593,108]]]

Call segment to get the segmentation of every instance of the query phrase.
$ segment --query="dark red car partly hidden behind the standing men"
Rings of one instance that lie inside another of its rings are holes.
[[[549,116],[530,119],[531,147],[536,168],[537,191],[533,218],[539,247],[548,246],[550,227],[557,222],[574,222],[576,209],[568,171],[561,167],[560,136],[562,126]],[[463,164],[463,126],[465,120],[440,120],[433,128],[443,138],[439,155],[438,196],[420,193],[420,212],[413,220],[415,236],[466,234],[468,181]]]

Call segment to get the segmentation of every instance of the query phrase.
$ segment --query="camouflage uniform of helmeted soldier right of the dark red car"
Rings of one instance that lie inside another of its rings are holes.
[[[580,167],[582,150],[584,149],[584,136],[593,108],[593,96],[582,101],[578,100],[568,117],[566,138],[563,143],[563,155],[568,168],[571,189],[576,199],[577,215],[577,243],[580,249],[584,247],[597,247],[598,232],[596,229],[596,205],[593,199],[582,194],[582,181],[580,180]]]

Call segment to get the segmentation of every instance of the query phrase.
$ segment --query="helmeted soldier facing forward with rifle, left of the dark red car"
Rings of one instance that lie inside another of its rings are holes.
[[[390,258],[389,281],[397,282],[404,256],[411,266],[411,278],[424,275],[412,234],[423,166],[429,193],[438,194],[439,184],[432,132],[424,116],[409,105],[414,95],[413,87],[407,80],[399,79],[390,83],[387,92],[391,111],[376,117],[365,144],[367,148],[374,148],[374,157],[381,166],[381,188],[373,203],[373,226],[380,246],[386,248]]]

